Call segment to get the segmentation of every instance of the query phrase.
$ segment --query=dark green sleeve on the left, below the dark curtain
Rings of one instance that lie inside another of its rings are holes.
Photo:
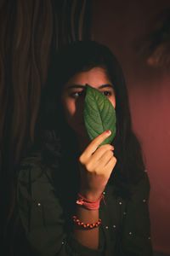
[[[103,247],[82,246],[65,231],[65,219],[53,183],[34,157],[21,163],[17,176],[17,205],[20,221],[32,255],[102,256]]]

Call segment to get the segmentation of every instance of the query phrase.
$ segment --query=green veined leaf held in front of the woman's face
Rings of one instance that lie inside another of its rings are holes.
[[[84,102],[84,123],[91,140],[105,130],[111,130],[111,136],[100,145],[111,143],[116,136],[115,108],[105,95],[88,84]]]

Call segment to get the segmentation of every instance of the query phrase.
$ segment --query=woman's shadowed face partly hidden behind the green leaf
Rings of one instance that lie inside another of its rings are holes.
[[[86,84],[102,92],[108,97],[113,107],[116,108],[115,92],[104,68],[94,67],[89,71],[75,74],[65,84],[61,102],[68,125],[71,126],[79,137],[87,137],[83,121],[84,91]]]

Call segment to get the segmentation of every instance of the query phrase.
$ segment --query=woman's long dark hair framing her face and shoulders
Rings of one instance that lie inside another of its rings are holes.
[[[117,120],[116,137],[113,144],[117,163],[109,183],[115,184],[117,194],[127,197],[131,193],[132,185],[138,183],[144,175],[144,160],[139,140],[132,129],[127,88],[122,68],[116,60],[116,56],[105,45],[94,41],[78,41],[67,45],[65,49],[53,56],[49,67],[47,85],[42,92],[42,107],[38,121],[40,126],[37,131],[39,132],[40,129],[42,132],[54,130],[60,134],[62,131],[66,131],[65,146],[67,149],[69,145],[74,147],[74,140],[71,141],[74,133],[63,119],[60,95],[63,85],[74,74],[88,71],[93,67],[105,68],[116,93]]]

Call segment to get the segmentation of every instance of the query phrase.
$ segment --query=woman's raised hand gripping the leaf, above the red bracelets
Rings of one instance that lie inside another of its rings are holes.
[[[80,193],[89,201],[99,199],[116,165],[113,146],[105,144],[99,147],[99,144],[110,135],[111,133],[104,131],[95,137],[78,159],[81,172]]]

